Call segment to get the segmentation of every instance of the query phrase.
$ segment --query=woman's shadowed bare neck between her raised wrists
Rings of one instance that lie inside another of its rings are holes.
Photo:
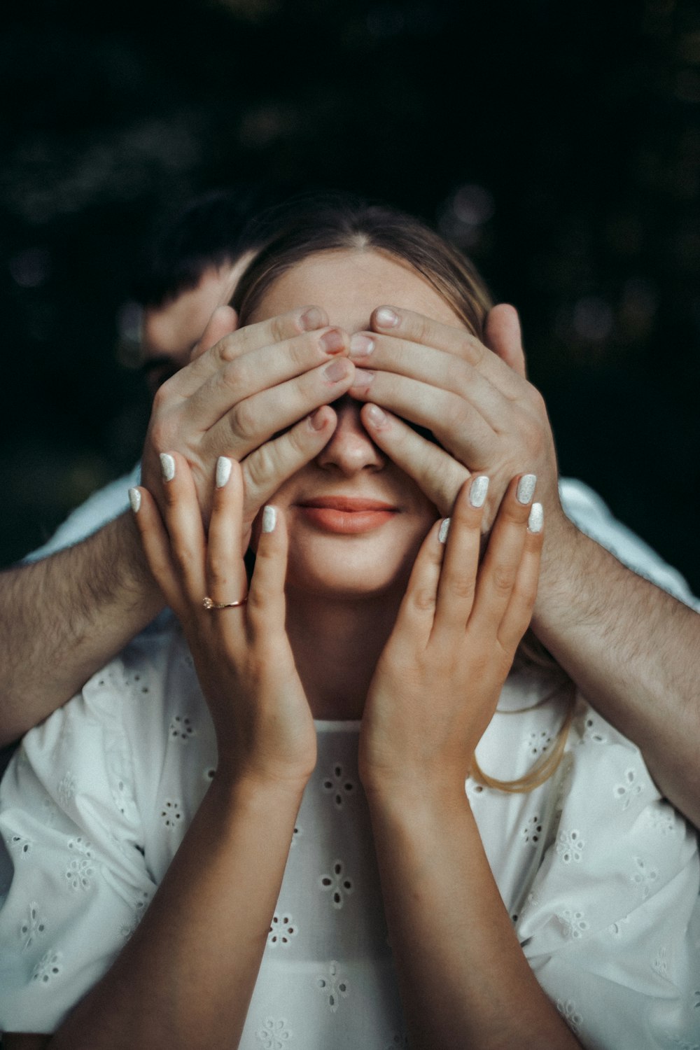
[[[400,593],[323,598],[288,589],[287,630],[315,718],[360,718]]]

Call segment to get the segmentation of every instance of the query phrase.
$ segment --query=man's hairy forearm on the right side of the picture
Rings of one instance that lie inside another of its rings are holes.
[[[533,630],[700,826],[700,616],[569,522],[545,544]]]

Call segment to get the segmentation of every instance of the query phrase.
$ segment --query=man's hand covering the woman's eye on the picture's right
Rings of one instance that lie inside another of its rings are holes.
[[[370,402],[362,419],[373,439],[442,513],[449,513],[468,472],[486,474],[491,479],[487,530],[510,479],[535,474],[538,499],[554,528],[557,517],[564,518],[554,439],[543,398],[525,378],[512,308],[492,312],[488,334],[506,360],[464,329],[381,307],[372,316],[372,331],[351,340],[357,366],[351,394]],[[442,448],[404,419],[431,430]]]

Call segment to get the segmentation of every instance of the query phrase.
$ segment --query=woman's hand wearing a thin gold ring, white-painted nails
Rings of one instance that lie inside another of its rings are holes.
[[[266,507],[249,590],[240,465],[218,459],[205,536],[187,461],[167,454],[163,464],[163,517],[152,495],[139,488],[135,518],[151,572],[194,657],[216,730],[218,774],[298,786],[316,762],[316,732],[284,627],[284,519]],[[245,604],[207,609],[205,596]]]

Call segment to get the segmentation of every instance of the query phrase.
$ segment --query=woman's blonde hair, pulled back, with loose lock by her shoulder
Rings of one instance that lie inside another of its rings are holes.
[[[461,251],[419,218],[346,194],[326,193],[296,198],[266,213],[258,224],[260,229],[268,230],[266,247],[243,273],[231,302],[241,324],[252,316],[272,285],[309,256],[341,250],[376,251],[408,262],[449,303],[467,331],[484,340],[486,317],[493,306],[484,280]],[[259,234],[258,237],[262,239]],[[432,438],[423,427],[413,428]],[[521,667],[558,672],[559,687],[570,681],[529,630],[521,642],[516,662]],[[551,695],[539,702],[546,702]],[[482,783],[499,791],[532,791],[558,766],[572,717],[573,692],[554,746],[524,777],[499,780],[485,774],[475,758],[472,773]]]

